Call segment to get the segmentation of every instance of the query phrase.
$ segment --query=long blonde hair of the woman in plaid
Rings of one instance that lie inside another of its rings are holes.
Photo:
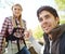
[[[21,10],[23,11],[23,8],[22,8],[21,4],[18,4],[18,3],[14,4],[14,5],[12,6],[12,10],[13,10],[14,6],[20,6]],[[20,17],[18,17],[18,21],[20,21],[21,27],[23,27],[22,14],[21,14]],[[12,23],[13,23],[13,27],[17,27],[16,24],[15,24],[15,17],[14,17],[14,15],[13,15],[13,17],[12,17]]]

